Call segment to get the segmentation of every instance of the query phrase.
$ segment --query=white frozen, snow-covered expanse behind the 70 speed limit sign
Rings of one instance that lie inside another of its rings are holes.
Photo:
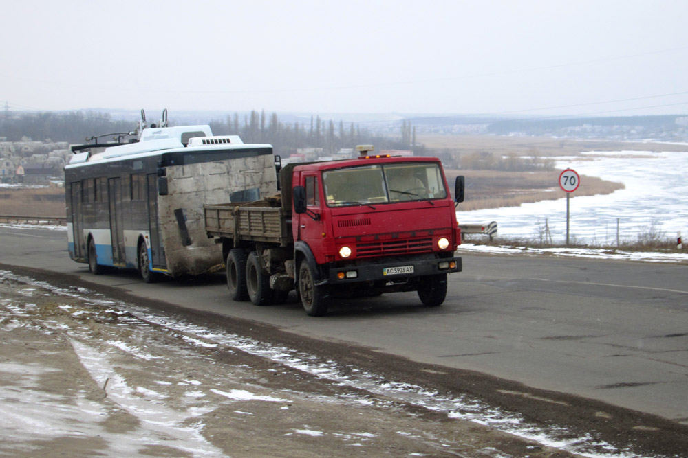
[[[616,243],[617,219],[622,241],[636,240],[640,233],[660,233],[667,238],[674,238],[677,231],[688,234],[688,152],[587,152],[580,157],[557,158],[557,168],[567,167],[580,175],[625,185],[625,189],[606,196],[572,193],[572,242]],[[556,185],[558,179],[559,173],[552,172],[552,183]],[[547,221],[554,242],[566,240],[566,198],[520,207],[458,211],[457,216],[466,224],[497,221],[498,235],[509,238],[539,239]]]

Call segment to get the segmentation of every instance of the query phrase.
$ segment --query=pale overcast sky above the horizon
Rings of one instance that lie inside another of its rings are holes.
[[[688,113],[688,1],[2,0],[10,109]]]

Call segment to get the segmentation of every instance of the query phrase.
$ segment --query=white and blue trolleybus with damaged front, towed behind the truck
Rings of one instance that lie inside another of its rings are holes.
[[[165,111],[158,126],[146,126],[143,116],[131,142],[72,146],[65,166],[69,256],[94,274],[136,268],[152,282],[222,268],[203,205],[277,192],[272,146],[213,136],[209,126],[166,124]]]

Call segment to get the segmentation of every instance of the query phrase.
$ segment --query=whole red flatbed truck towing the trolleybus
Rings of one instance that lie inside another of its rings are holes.
[[[357,149],[356,159],[286,165],[281,192],[270,198],[204,205],[234,300],[270,304],[295,289],[312,316],[326,314],[336,297],[396,291],[442,304],[447,274],[462,271],[462,262],[440,160]],[[463,201],[463,176],[454,195]]]

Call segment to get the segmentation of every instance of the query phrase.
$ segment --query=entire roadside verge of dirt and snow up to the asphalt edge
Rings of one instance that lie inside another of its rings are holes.
[[[6,455],[572,456],[497,431],[480,416],[452,417],[414,402],[385,387],[393,380],[438,398],[472,396],[484,402],[476,411],[518,412],[519,421],[555,434],[550,443],[588,437],[597,455],[688,449],[688,428],[650,415],[189,312],[76,277],[12,270],[0,273]],[[228,335],[241,336],[239,343],[219,338]],[[241,339],[267,344],[272,356]],[[330,375],[332,364],[338,375]],[[378,389],[346,381],[373,373],[383,380]]]

